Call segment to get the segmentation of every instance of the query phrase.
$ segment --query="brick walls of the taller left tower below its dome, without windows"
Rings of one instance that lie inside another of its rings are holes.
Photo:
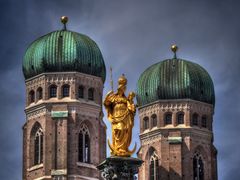
[[[49,87],[57,86],[57,97],[49,98]],[[63,97],[63,85],[69,85],[69,97]],[[84,87],[84,97],[78,97],[78,87]],[[37,89],[43,89],[38,99]],[[88,99],[88,89],[94,89],[94,100]],[[29,92],[34,91],[34,102]],[[102,115],[103,83],[99,77],[78,72],[45,73],[26,81],[26,123],[23,126],[23,179],[101,179],[96,165],[106,157],[106,126]],[[52,112],[67,112],[67,117],[54,117]],[[34,165],[32,129],[39,123],[43,131],[43,162]],[[90,163],[78,160],[78,134],[85,124],[90,135]]]

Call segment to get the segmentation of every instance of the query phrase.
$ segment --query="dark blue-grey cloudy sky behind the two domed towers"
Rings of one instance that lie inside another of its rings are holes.
[[[239,180],[239,7],[237,0],[1,0],[0,179],[22,179],[24,52],[39,36],[61,29],[59,17],[67,15],[68,29],[94,39],[115,82],[125,73],[129,90],[144,69],[173,56],[173,43],[178,57],[202,65],[215,85],[219,180]],[[109,89],[108,74],[104,93]],[[138,134],[136,123],[135,140]]]

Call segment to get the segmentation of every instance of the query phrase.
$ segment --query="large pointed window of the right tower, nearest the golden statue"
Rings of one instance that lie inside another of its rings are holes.
[[[149,177],[150,180],[159,179],[158,156],[155,151],[152,153],[150,157]]]

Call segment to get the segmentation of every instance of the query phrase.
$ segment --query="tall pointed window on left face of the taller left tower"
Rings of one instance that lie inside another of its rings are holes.
[[[43,131],[39,123],[33,126],[31,132],[33,147],[33,165],[43,163]]]

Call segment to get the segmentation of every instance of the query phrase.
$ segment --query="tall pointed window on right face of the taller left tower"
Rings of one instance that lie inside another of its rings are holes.
[[[81,126],[78,137],[78,161],[90,163],[90,134],[85,124]]]

